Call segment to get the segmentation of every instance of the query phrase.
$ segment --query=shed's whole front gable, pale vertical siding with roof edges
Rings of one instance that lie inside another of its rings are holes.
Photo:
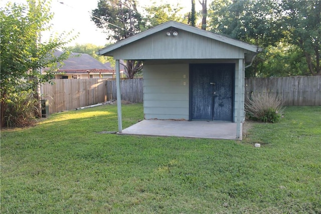
[[[174,36],[173,32],[178,35]],[[170,36],[168,36],[170,33]],[[260,49],[195,27],[169,21],[107,46],[97,52],[114,59],[244,58]]]

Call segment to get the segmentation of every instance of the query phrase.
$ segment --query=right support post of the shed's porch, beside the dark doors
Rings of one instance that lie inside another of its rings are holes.
[[[238,86],[237,86],[237,93],[238,93],[238,102],[237,102],[237,118],[236,118],[236,138],[242,139],[242,122],[241,122],[241,109],[242,109],[242,95],[243,95],[243,77],[244,77],[244,70],[243,70],[243,59],[239,59],[239,66],[238,66]]]

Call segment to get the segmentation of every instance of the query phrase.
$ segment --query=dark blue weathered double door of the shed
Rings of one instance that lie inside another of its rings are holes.
[[[235,64],[190,64],[190,120],[233,121]]]

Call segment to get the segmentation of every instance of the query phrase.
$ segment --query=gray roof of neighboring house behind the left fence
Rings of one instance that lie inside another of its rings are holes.
[[[54,55],[59,56],[63,52],[55,51]],[[114,70],[96,60],[89,54],[71,53],[69,58],[63,61],[63,64],[58,63],[58,69],[55,73],[66,74],[112,74]],[[46,70],[46,69],[44,69]]]

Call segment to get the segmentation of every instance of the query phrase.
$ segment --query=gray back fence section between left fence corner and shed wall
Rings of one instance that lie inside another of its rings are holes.
[[[121,99],[130,102],[143,101],[143,79],[126,79],[120,81]],[[107,81],[108,100],[117,99],[116,81]]]

